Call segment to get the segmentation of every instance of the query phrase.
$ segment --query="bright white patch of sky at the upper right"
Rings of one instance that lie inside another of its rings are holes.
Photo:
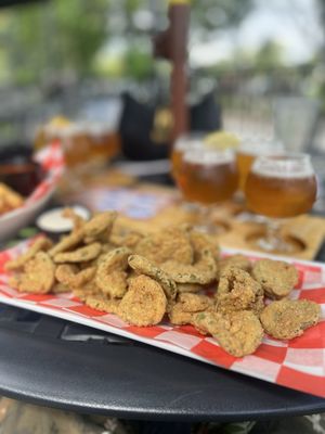
[[[323,41],[316,0],[256,0],[256,8],[233,31],[219,34],[210,42],[194,43],[191,63],[208,66],[226,60],[238,48],[256,51],[273,39],[284,48],[288,65],[310,60]]]

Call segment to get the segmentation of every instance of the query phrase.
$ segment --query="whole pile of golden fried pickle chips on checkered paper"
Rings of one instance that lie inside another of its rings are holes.
[[[216,242],[190,225],[143,233],[121,225],[116,212],[90,220],[70,209],[65,216],[74,220],[68,235],[56,244],[39,237],[5,264],[11,286],[72,291],[136,327],[191,324],[235,357],[255,353],[264,334],[290,340],[320,320],[320,305],[289,298],[298,282],[291,264],[222,257]]]

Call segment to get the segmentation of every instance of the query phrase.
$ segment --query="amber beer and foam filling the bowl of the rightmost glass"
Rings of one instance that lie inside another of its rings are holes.
[[[252,212],[274,218],[295,217],[311,209],[316,197],[316,179],[310,164],[297,161],[295,165],[290,161],[288,166],[285,157],[273,157],[273,165],[252,166],[245,191],[247,206]]]

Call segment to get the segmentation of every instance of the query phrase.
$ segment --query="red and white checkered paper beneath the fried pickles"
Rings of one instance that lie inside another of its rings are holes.
[[[264,337],[255,354],[236,358],[225,353],[212,337],[204,336],[192,326],[173,327],[168,322],[154,327],[134,327],[116,315],[83,305],[70,293],[27,294],[8,284],[6,260],[24,252],[28,242],[0,253],[0,302],[60,317],[121,336],[141,341],[207,363],[222,367],[297,391],[325,398],[325,265],[290,260],[299,270],[299,282],[291,293],[294,299],[307,298],[322,306],[321,322],[300,337],[278,341]],[[224,251],[232,254],[234,251]],[[256,260],[270,255],[243,252]],[[282,258],[284,259],[284,258]],[[288,260],[287,258],[284,260]]]

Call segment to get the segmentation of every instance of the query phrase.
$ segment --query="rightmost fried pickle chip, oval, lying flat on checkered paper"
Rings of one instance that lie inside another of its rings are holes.
[[[290,340],[320,321],[321,306],[309,299],[273,302],[261,314],[262,326],[270,336]]]

